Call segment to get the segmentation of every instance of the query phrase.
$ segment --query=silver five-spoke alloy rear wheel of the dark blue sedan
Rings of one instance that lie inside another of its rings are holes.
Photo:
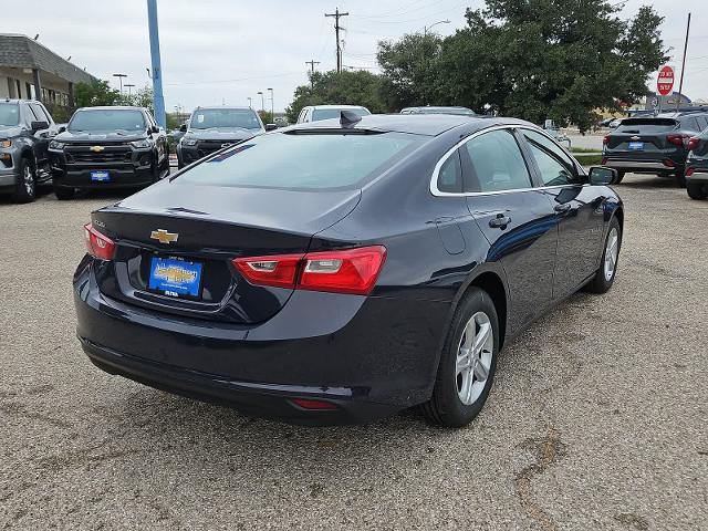
[[[457,395],[469,406],[485,391],[494,350],[494,332],[485,312],[477,312],[465,325],[457,348],[455,379]]]

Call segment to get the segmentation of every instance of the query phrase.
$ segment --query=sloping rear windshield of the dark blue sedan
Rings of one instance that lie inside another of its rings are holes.
[[[403,133],[263,135],[178,176],[175,183],[280,189],[360,188],[420,145]]]

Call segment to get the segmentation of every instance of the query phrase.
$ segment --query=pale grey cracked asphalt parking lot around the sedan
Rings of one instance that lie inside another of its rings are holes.
[[[708,201],[617,190],[614,288],[508,345],[461,430],[293,427],[108,376],[71,277],[116,196],[0,200],[0,529],[708,529]]]

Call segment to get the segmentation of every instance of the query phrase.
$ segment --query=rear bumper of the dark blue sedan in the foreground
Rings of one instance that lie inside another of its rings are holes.
[[[449,302],[295,292],[264,323],[215,323],[108,299],[91,263],[74,279],[77,336],[110,373],[301,424],[371,421],[430,396]]]

